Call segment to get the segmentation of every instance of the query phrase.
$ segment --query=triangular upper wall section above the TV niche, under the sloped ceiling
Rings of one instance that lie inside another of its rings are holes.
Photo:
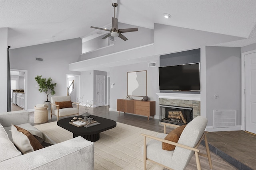
[[[168,54],[189,49],[198,49],[202,46],[215,45],[243,39],[230,35],[154,24],[155,54]]]

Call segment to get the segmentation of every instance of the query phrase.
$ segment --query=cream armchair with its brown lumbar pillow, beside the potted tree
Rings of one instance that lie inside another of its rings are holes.
[[[51,119],[52,115],[57,116],[57,120],[63,116],[79,115],[79,104],[71,102],[70,96],[53,96],[51,102]],[[72,104],[76,104],[77,108]]]

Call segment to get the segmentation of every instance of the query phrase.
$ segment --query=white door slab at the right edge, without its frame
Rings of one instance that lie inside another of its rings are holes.
[[[245,130],[256,134],[256,53],[245,55]]]

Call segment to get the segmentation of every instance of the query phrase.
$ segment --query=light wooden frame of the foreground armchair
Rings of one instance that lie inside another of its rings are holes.
[[[166,133],[166,125],[168,126],[172,126],[172,127],[179,127],[179,125],[174,125],[174,124],[170,124],[170,123],[164,123],[164,122],[161,122],[162,125],[164,125],[164,133]],[[200,156],[204,156],[206,158],[208,158],[208,162],[209,162],[209,165],[210,165],[210,169],[212,170],[212,158],[211,158],[211,155],[210,155],[210,150],[209,150],[209,145],[208,145],[208,141],[207,141],[207,137],[206,137],[206,133],[208,133],[207,131],[204,131],[202,137],[200,138],[200,140],[198,141],[198,143],[196,144],[196,146],[194,148],[192,147],[188,147],[186,145],[181,145],[179,143],[175,143],[175,142],[172,142],[172,141],[168,141],[168,140],[165,140],[165,139],[162,139],[162,138],[158,138],[158,137],[154,137],[154,136],[150,136],[150,135],[146,135],[146,134],[141,134],[142,136],[144,136],[144,170],[146,170],[146,166],[147,166],[147,160],[151,161],[151,162],[154,162],[155,164],[158,164],[160,166],[163,166],[164,168],[167,168],[167,169],[170,169],[170,170],[173,170],[172,168],[170,167],[167,167],[163,164],[160,164],[158,162],[155,162],[153,160],[150,160],[147,158],[147,140],[146,138],[151,138],[151,139],[154,139],[154,140],[158,140],[158,141],[161,141],[161,142],[164,142],[164,143],[168,143],[170,145],[175,145],[177,147],[182,147],[184,149],[189,149],[189,150],[193,150],[195,152],[195,156],[196,156],[196,166],[197,166],[197,169],[198,170],[202,170],[201,168],[201,163],[200,163],[200,160],[199,160],[199,155]],[[204,142],[205,142],[205,147],[206,147],[206,154],[203,154],[203,153],[200,153],[200,150],[198,149],[202,139],[204,139]]]

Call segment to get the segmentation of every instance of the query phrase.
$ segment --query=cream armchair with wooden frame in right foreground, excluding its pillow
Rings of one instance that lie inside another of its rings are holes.
[[[198,170],[201,170],[201,164],[198,155],[207,157],[210,169],[212,169],[210,150],[205,135],[206,132],[204,131],[207,122],[208,120],[202,116],[194,118],[184,128],[178,143],[165,140],[164,138],[167,136],[165,133],[160,133],[157,137],[142,134],[144,136],[144,146],[142,147],[142,152],[144,152],[144,170],[146,170],[147,160],[150,160],[151,162],[154,162],[155,164],[170,170],[184,170],[194,153],[196,156],[196,165]],[[167,124],[172,125],[170,123],[163,124],[164,132],[166,132]],[[151,138],[151,140],[146,141],[147,137]],[[203,138],[205,140],[207,154],[202,154],[200,153],[200,150],[197,149]],[[163,150],[162,142],[175,145],[176,147],[171,151]]]

